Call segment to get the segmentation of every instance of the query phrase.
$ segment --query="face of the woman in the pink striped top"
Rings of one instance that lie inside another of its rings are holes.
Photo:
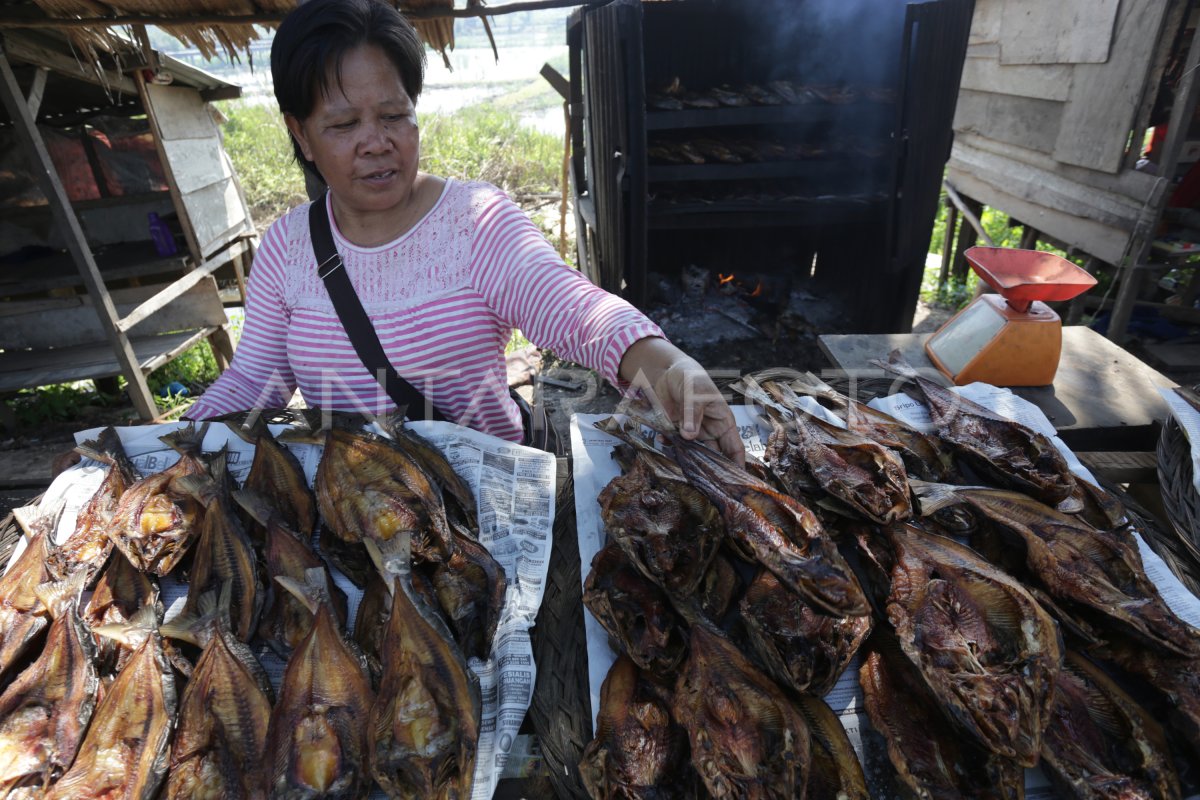
[[[416,108],[378,47],[348,50],[341,84],[332,82],[328,95],[318,92],[304,122],[290,115],[284,120],[340,210],[370,215],[412,198],[420,155]]]

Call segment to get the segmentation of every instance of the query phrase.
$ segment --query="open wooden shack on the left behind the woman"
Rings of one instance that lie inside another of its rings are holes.
[[[115,36],[88,49],[0,34],[0,393],[121,375],[152,419],[151,371],[205,339],[233,356],[214,276],[241,288],[256,234],[211,101],[240,89]]]

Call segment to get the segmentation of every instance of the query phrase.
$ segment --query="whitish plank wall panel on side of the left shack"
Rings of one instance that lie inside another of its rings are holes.
[[[194,254],[204,260],[239,234],[253,231],[250,212],[221,145],[221,132],[199,92],[146,84],[146,97],[172,191],[187,212],[185,230],[194,239]]]

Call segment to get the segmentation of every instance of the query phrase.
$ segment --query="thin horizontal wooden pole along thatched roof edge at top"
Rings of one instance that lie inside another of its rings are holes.
[[[503,6],[475,6],[472,8],[401,8],[409,19],[456,19],[470,17],[499,17],[500,14],[545,8],[574,8],[575,6],[602,5],[607,0],[524,0]],[[0,19],[4,28],[116,28],[121,25],[277,25],[287,12],[263,12],[257,14],[113,14],[110,17],[47,17],[37,19]],[[168,31],[169,32],[169,31]]]

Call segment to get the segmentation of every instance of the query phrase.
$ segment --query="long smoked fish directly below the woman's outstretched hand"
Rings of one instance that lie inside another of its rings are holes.
[[[739,549],[824,613],[869,613],[853,572],[808,506],[776,492],[721,453],[684,439],[670,421],[655,417],[644,422],[666,438],[672,457],[721,512],[726,531]]]

